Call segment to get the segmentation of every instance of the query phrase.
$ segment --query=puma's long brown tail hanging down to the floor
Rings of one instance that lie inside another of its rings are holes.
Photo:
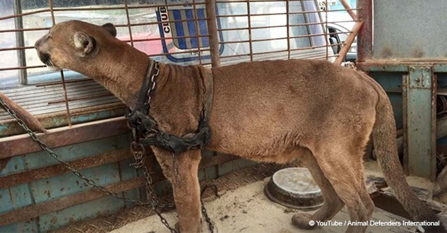
[[[378,84],[376,85],[375,90],[379,95],[379,99],[375,107],[373,138],[378,162],[384,173],[385,180],[393,188],[400,204],[404,206],[414,221],[437,222],[439,219],[435,212],[416,197],[405,180],[405,175],[397,156],[395,120],[391,103],[384,90]],[[441,221],[439,221],[439,226],[424,226],[424,229],[426,232],[446,232],[446,228]]]

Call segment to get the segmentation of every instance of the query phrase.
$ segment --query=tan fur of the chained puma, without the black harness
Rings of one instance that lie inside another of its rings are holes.
[[[75,47],[76,32],[96,40],[91,53]],[[134,106],[148,64],[144,53],[106,29],[80,21],[55,25],[49,35],[52,39],[44,36],[36,49],[50,54],[54,66],[88,75]],[[193,132],[204,95],[200,81],[204,68],[161,64],[160,69],[150,114],[166,132],[177,136]],[[367,75],[319,60],[241,63],[212,69],[212,74],[212,140],[207,148],[260,162],[303,160],[322,189],[325,204],[312,216],[296,214],[292,222],[299,228],[312,228],[310,219],[331,219],[344,205],[351,221],[371,218],[374,205],[362,167],[371,132],[386,179],[406,210],[418,221],[437,219],[405,182],[389,99]],[[175,179],[171,154],[152,149],[173,184],[180,230],[199,232],[199,151],[177,156],[179,178]],[[347,231],[364,230],[366,226],[349,226]]]

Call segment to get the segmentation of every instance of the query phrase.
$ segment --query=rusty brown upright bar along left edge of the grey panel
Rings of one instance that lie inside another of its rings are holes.
[[[373,0],[357,0],[357,17],[363,21],[357,36],[357,61],[373,58]]]

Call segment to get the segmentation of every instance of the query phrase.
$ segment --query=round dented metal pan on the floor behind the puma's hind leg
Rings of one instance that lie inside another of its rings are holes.
[[[289,208],[308,210],[323,205],[320,188],[305,168],[276,171],[265,185],[265,193],[272,201]]]

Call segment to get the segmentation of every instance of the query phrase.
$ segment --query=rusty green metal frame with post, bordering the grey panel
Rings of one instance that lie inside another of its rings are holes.
[[[373,0],[358,0],[359,19],[364,26],[358,34],[358,68],[373,76],[389,94],[393,108],[402,106],[397,124],[404,128],[404,170],[435,180],[437,77],[447,73],[447,58],[373,58]],[[420,9],[422,10],[422,9]],[[417,33],[417,27],[414,28]],[[374,36],[380,36],[375,32]],[[386,36],[386,35],[384,35]],[[442,75],[441,75],[442,74]],[[402,80],[402,86],[395,85]],[[392,83],[390,85],[390,83]],[[393,86],[389,88],[389,86]],[[402,91],[400,103],[396,98]]]

